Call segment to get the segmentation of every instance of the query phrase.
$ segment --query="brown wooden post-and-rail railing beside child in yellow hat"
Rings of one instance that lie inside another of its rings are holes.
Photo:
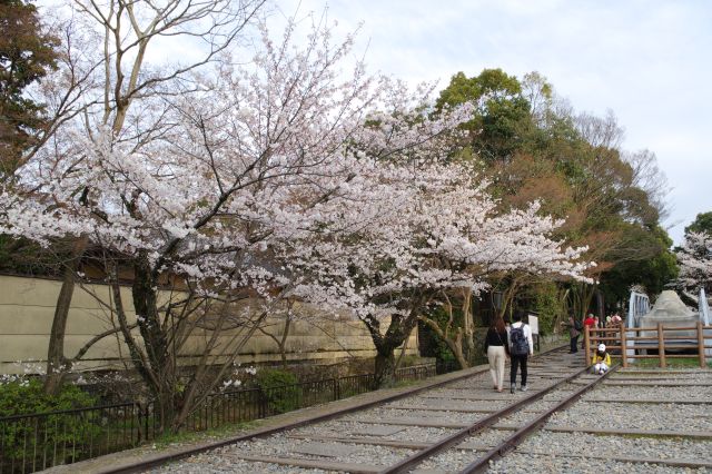
[[[705,330],[708,332],[706,338]],[[690,334],[680,335],[680,332],[689,332]],[[693,332],[694,334],[692,334]],[[641,333],[654,333],[654,335],[642,335]],[[688,344],[682,344],[682,342],[688,342]],[[585,326],[584,356],[586,364],[591,362],[601,343],[605,344],[606,352],[621,355],[623,367],[627,367],[630,359],[634,358],[660,358],[661,367],[668,366],[669,358],[690,358],[690,354],[666,354],[665,350],[670,349],[695,349],[700,367],[706,367],[705,349],[712,349],[712,326],[703,326],[702,323],[681,327],[665,327],[662,324],[659,324],[657,327],[623,327],[622,324],[600,328]],[[657,354],[641,354],[641,350],[645,349],[657,350]]]

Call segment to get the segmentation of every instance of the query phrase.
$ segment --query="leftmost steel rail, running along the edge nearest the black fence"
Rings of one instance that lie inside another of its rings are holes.
[[[545,356],[547,354],[551,354],[553,352],[561,350],[562,348],[565,348],[565,347],[568,347],[568,345],[566,344],[566,345],[561,345],[561,346],[553,347],[553,348],[551,348],[548,350],[545,350],[543,353],[537,354],[535,357],[538,358],[538,357]],[[239,436],[233,436],[233,437],[229,437],[229,438],[226,438],[226,440],[221,440],[221,441],[218,441],[218,442],[212,442],[212,443],[205,444],[205,445],[201,445],[201,446],[190,447],[190,448],[187,448],[187,450],[181,450],[181,451],[176,452],[176,453],[169,453],[169,454],[162,454],[162,455],[154,456],[154,457],[151,457],[149,460],[145,460],[145,461],[137,461],[137,462],[134,462],[134,463],[123,464],[123,465],[116,466],[116,467],[108,467],[108,468],[105,468],[105,470],[99,470],[98,473],[99,474],[140,473],[140,472],[144,472],[144,471],[146,471],[148,468],[151,468],[151,467],[157,467],[157,466],[164,465],[164,464],[169,463],[169,462],[179,461],[179,460],[186,458],[188,456],[192,456],[195,454],[200,454],[200,453],[205,453],[205,452],[208,452],[208,451],[212,451],[212,450],[216,450],[218,447],[222,447],[222,446],[227,446],[227,445],[230,445],[230,444],[236,444],[236,443],[240,443],[240,442],[245,442],[245,441],[249,441],[249,440],[266,437],[266,436],[273,435],[275,433],[280,433],[280,432],[288,431],[288,429],[294,429],[294,428],[298,428],[298,427],[301,427],[301,426],[307,426],[307,425],[312,425],[312,424],[315,424],[315,423],[326,422],[326,421],[329,421],[329,419],[338,418],[338,417],[340,417],[343,415],[347,415],[347,414],[350,414],[350,413],[354,413],[354,412],[358,412],[358,411],[362,411],[362,409],[365,409],[365,408],[370,408],[373,406],[377,406],[377,405],[380,405],[380,404],[384,404],[384,403],[394,402],[394,401],[397,401],[397,399],[400,399],[400,398],[405,398],[405,397],[411,396],[411,395],[416,395],[418,393],[429,391],[432,388],[437,388],[437,387],[441,387],[443,385],[451,384],[453,382],[462,381],[464,378],[468,378],[468,377],[472,377],[474,375],[479,375],[479,374],[483,374],[483,373],[485,373],[487,371],[488,371],[488,368],[485,367],[485,368],[478,369],[476,372],[471,372],[471,373],[463,374],[463,375],[457,376],[457,377],[448,378],[448,379],[443,381],[443,382],[436,382],[436,383],[429,384],[429,385],[424,386],[424,387],[413,388],[413,389],[409,389],[409,391],[406,391],[406,392],[403,392],[403,393],[399,393],[399,394],[394,394],[394,395],[387,396],[385,398],[378,398],[378,399],[375,399],[375,401],[372,401],[372,402],[365,402],[365,403],[357,404],[357,405],[354,405],[354,406],[350,406],[350,407],[347,407],[347,408],[338,409],[338,411],[333,412],[333,413],[327,413],[327,414],[324,414],[324,415],[313,416],[313,417],[309,417],[309,418],[301,419],[299,422],[288,423],[288,424],[279,425],[279,426],[276,426],[276,427],[273,427],[273,428],[261,429],[261,431],[258,431],[258,432],[255,432],[255,433],[249,433],[249,434],[239,435]]]

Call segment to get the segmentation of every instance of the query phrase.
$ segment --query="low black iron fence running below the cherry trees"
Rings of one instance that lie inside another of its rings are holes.
[[[396,382],[452,368],[419,365],[396,371]],[[374,375],[352,375],[210,395],[184,429],[204,431],[347,398],[374,389]],[[0,474],[31,473],[115,453],[158,435],[152,403],[122,403],[0,418]]]

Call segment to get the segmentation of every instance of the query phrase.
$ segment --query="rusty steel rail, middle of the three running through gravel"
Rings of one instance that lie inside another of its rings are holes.
[[[491,425],[493,425],[495,422],[497,422],[500,418],[511,414],[512,412],[516,412],[517,409],[520,409],[521,407],[528,405],[533,402],[536,402],[540,398],[543,398],[546,394],[548,394],[550,392],[554,391],[555,388],[558,388],[561,385],[566,384],[571,381],[573,381],[574,378],[578,377],[580,375],[586,373],[589,371],[589,367],[585,367],[558,382],[556,382],[555,384],[540,391],[536,393],[533,393],[532,395],[522,398],[520,401],[517,401],[516,403],[508,405],[497,412],[494,412],[493,414],[478,419],[477,422],[473,423],[472,425],[459,429],[458,432],[432,444],[431,446],[418,451],[417,453],[406,457],[405,460],[400,461],[397,464],[394,464],[392,466],[386,467],[385,470],[380,471],[379,474],[396,474],[396,473],[406,473],[409,472],[411,470],[413,470],[415,466],[417,466],[418,464],[421,464],[423,461],[427,460],[428,457],[432,457],[443,451],[448,450],[449,447],[458,444],[461,441],[465,440],[466,437],[473,435],[474,433],[482,431]]]

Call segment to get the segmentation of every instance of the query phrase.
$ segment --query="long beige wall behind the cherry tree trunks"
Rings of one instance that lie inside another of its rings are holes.
[[[52,325],[55,303],[61,283],[51,279],[23,278],[0,275],[0,374],[20,373],[27,363],[47,357],[48,334]],[[109,290],[103,285],[77,286],[67,324],[65,354],[73,357],[83,344],[97,334],[113,327],[110,312],[99,299],[109,300]],[[135,320],[129,288],[122,288],[122,299],[128,317]],[[255,302],[253,302],[255,303]],[[364,325],[342,315],[335,322],[333,315],[319,313],[309,305],[295,305],[294,312],[301,317],[293,324],[287,338],[289,361],[323,361],[343,357],[373,357],[373,343]],[[268,320],[266,330],[281,334],[284,324],[278,318]],[[241,329],[224,330],[220,340],[226,347],[240,338]],[[408,354],[417,348],[417,332],[407,346]],[[190,355],[200,353],[205,330],[189,339],[184,350],[184,363]],[[127,364],[127,348],[117,336],[109,336],[97,343],[83,357],[80,369],[123,368]],[[255,333],[241,348],[238,362],[241,364],[279,361],[275,342],[260,333]],[[17,362],[23,365],[18,365]]]

